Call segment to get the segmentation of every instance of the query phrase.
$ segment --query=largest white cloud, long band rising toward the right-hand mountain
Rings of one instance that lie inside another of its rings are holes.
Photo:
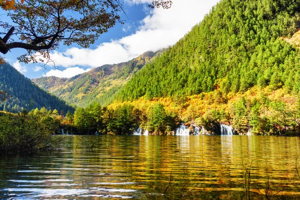
[[[95,49],[72,47],[64,52],[54,51],[51,59],[56,65],[63,67],[97,67],[127,61],[148,50],[156,51],[173,45],[183,37],[217,1],[172,0],[170,9],[151,10],[134,34],[101,43]],[[149,4],[152,0],[140,2]]]

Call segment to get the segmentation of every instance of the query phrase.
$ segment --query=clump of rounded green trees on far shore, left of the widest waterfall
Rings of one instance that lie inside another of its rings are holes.
[[[66,119],[70,116],[66,115]],[[148,129],[151,134],[170,134],[176,128],[176,116],[168,114],[162,104],[149,111],[140,110],[131,104],[114,108],[101,107],[92,103],[86,108],[77,107],[73,115],[77,134],[132,134],[134,129]],[[68,120],[68,119],[67,119]]]

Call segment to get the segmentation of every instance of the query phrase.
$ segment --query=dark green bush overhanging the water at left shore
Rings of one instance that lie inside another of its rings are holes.
[[[61,140],[52,136],[49,118],[4,114],[0,116],[0,153],[24,153],[54,147]]]

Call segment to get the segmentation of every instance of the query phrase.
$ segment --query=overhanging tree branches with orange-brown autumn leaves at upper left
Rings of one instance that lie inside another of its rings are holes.
[[[138,2],[138,0],[131,0]],[[153,0],[150,7],[169,8],[170,0]],[[0,52],[27,52],[22,62],[48,62],[49,51],[60,44],[87,48],[115,23],[123,23],[120,0],[0,0],[11,23],[0,19]]]

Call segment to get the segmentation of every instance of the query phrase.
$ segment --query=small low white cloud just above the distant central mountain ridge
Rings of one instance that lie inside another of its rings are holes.
[[[69,68],[66,68],[64,70],[51,69],[48,72],[46,72],[46,74],[43,74],[43,76],[51,76],[51,75],[53,75],[53,76],[56,76],[56,77],[70,78],[70,77],[73,77],[73,76],[75,76],[77,74],[87,72],[89,70],[90,70],[90,68],[84,70],[82,68],[79,68],[78,66],[69,67]]]

